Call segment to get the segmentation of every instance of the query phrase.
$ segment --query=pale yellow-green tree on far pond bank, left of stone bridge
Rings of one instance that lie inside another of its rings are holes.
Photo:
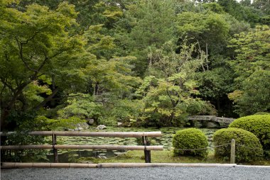
[[[149,55],[149,76],[137,94],[143,97],[146,119],[154,120],[156,125],[183,123],[180,117],[188,114],[188,107],[200,102],[194,79],[200,58],[192,56],[194,50],[195,45],[183,45],[176,54],[175,45],[168,42]]]

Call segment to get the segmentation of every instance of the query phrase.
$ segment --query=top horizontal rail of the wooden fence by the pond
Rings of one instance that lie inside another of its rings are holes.
[[[12,135],[15,132],[3,133],[1,136]],[[161,131],[157,132],[80,132],[80,131],[32,131],[28,135],[58,135],[58,136],[85,136],[85,137],[161,137]]]

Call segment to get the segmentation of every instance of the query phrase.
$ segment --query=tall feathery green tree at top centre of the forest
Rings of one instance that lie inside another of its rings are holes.
[[[121,30],[120,35],[115,37],[125,51],[128,50],[137,58],[136,72],[143,75],[148,66],[148,50],[161,47],[163,43],[173,38],[175,20],[173,2],[142,0],[129,6],[124,16],[127,21],[122,20],[121,26],[129,29]]]

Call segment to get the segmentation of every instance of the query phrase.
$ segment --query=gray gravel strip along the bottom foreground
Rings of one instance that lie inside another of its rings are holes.
[[[56,169],[1,169],[2,180],[38,179],[251,179],[270,180],[270,168],[264,167],[153,167]]]

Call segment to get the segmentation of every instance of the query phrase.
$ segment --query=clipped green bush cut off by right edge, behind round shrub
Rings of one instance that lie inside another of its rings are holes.
[[[252,115],[234,120],[229,128],[247,130],[259,138],[266,157],[270,157],[270,114]]]

